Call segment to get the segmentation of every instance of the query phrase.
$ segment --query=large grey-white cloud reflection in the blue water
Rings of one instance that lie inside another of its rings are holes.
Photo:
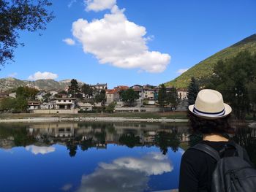
[[[83,175],[78,192],[143,191],[149,175],[172,170],[170,161],[161,153],[148,153],[142,158],[118,158],[111,164],[99,164],[92,174]]]

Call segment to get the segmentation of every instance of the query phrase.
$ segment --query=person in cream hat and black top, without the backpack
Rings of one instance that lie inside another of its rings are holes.
[[[203,141],[218,152],[223,146],[233,145],[227,135],[232,132],[229,124],[231,107],[225,104],[222,94],[211,89],[203,89],[197,94],[195,104],[189,105],[189,122],[194,133],[203,134]],[[219,153],[222,157],[232,156],[236,148],[230,147]],[[244,150],[244,160],[249,157]],[[211,191],[212,174],[216,160],[203,151],[187,150],[181,158],[179,192]]]

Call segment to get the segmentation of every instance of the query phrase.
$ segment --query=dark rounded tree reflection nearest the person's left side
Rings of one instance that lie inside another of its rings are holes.
[[[154,142],[160,148],[163,155],[168,152],[168,147],[171,147],[173,152],[178,150],[180,144],[180,137],[177,130],[172,132],[159,131],[154,138]]]

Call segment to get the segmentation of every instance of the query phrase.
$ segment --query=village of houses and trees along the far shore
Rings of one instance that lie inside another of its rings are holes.
[[[24,88],[24,87],[20,87]],[[28,87],[25,87],[28,88]],[[17,90],[1,91],[4,99],[15,99]],[[29,89],[29,88],[28,88]],[[95,85],[78,84],[71,80],[64,90],[37,90],[31,98],[26,99],[26,112],[39,114],[74,114],[93,112],[159,112],[161,110],[187,110],[187,90],[164,87],[166,96],[174,97],[171,101],[159,101],[160,86],[153,85],[118,85],[108,89],[107,83]],[[127,94],[127,96],[125,96]],[[161,94],[161,93],[160,93]],[[168,100],[168,99],[165,99]],[[2,112],[17,112],[2,110]],[[20,111],[18,111],[20,112]]]

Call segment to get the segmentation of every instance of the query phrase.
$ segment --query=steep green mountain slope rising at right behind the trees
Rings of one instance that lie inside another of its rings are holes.
[[[165,82],[165,86],[175,86],[177,88],[187,88],[189,85],[191,77],[201,78],[207,77],[213,74],[214,65],[217,64],[219,60],[225,60],[227,58],[232,58],[237,53],[248,50],[250,53],[256,53],[256,34],[249,36],[240,42],[225,48],[224,50],[211,55],[199,64],[192,66],[187,72],[184,72],[179,77],[170,82]]]

